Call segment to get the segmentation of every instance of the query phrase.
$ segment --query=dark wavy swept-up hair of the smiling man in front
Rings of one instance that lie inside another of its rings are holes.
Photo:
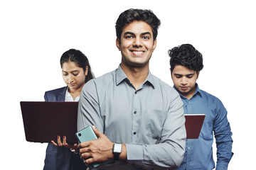
[[[130,8],[119,15],[116,22],[116,33],[117,38],[121,40],[121,34],[124,26],[129,25],[133,21],[144,21],[149,24],[152,28],[153,38],[156,39],[157,29],[159,28],[161,22],[159,18],[151,10],[134,9]]]

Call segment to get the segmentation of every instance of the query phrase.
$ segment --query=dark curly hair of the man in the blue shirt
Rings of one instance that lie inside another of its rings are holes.
[[[203,55],[193,45],[183,44],[168,51],[171,72],[176,65],[182,65],[188,69],[200,72],[203,69]]]

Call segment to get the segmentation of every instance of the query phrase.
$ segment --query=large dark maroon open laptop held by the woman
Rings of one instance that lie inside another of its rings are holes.
[[[28,142],[57,142],[65,135],[68,144],[78,143],[78,102],[21,101],[21,113]]]

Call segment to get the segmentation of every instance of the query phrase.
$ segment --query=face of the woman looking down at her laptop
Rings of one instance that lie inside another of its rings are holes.
[[[64,62],[62,66],[63,79],[68,85],[69,91],[81,91],[85,85],[85,76],[87,76],[87,67],[84,71],[78,67],[75,62]]]

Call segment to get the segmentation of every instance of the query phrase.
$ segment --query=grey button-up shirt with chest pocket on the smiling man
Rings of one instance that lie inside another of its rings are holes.
[[[95,125],[127,147],[127,162],[102,169],[176,168],[186,145],[184,123],[180,96],[150,72],[136,90],[119,66],[88,81],[80,94],[78,130]]]

